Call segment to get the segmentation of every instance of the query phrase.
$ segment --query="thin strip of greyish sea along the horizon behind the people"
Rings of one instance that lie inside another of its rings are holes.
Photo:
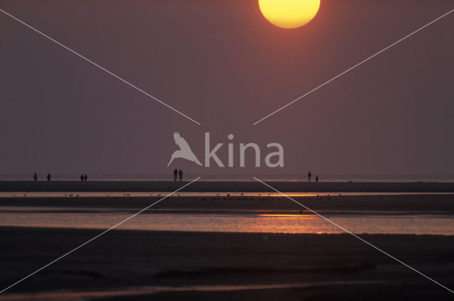
[[[79,181],[80,174],[52,174],[52,180]],[[172,181],[172,174],[88,174],[89,181]],[[185,180],[191,181],[200,175],[185,174]],[[257,175],[201,175],[203,181],[255,181]],[[324,182],[454,182],[454,175],[318,175]],[[31,174],[1,174],[0,181],[31,181]],[[45,174],[38,174],[44,180]],[[315,178],[315,174],[313,174]],[[262,181],[307,181],[303,175],[260,175]]]

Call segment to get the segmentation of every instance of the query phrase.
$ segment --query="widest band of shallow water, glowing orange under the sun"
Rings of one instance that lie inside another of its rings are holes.
[[[0,208],[0,226],[65,227],[109,229],[133,215],[133,211],[93,210],[86,212],[61,211],[62,208]],[[325,215],[351,232],[385,234],[445,234],[454,235],[454,216],[383,214],[383,215]],[[116,229],[198,232],[263,232],[263,233],[341,233],[341,229],[320,217],[293,212],[261,213],[172,213],[143,212]]]

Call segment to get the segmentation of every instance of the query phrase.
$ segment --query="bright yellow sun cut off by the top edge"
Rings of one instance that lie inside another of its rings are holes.
[[[272,24],[297,28],[315,17],[320,0],[258,0],[258,5],[263,16]]]

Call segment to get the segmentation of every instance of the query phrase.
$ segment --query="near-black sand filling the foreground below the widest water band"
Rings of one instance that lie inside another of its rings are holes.
[[[1,288],[100,232],[0,227]],[[454,237],[362,238],[454,288]],[[114,230],[0,295],[38,299],[415,301],[453,293],[348,234]]]

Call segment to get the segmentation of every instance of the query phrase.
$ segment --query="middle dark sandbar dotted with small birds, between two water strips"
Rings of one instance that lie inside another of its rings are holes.
[[[70,208],[70,210],[90,209],[121,209],[141,210],[165,195],[150,197],[57,197],[31,198],[15,197],[0,198],[0,206],[22,206],[43,208]],[[359,214],[376,214],[377,212],[399,213],[454,213],[454,194],[431,195],[321,195],[292,197],[311,210],[343,213],[358,212]],[[151,209],[150,209],[151,210]],[[172,210],[174,213],[191,212],[223,212],[235,214],[238,211],[257,213],[263,211],[299,211],[305,210],[297,203],[284,197],[261,196],[178,196],[177,194],[161,200],[159,210]]]

